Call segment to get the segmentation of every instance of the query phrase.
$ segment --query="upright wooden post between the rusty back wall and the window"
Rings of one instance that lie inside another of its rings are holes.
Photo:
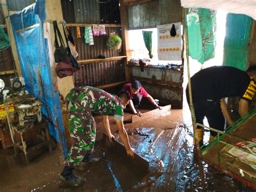
[[[128,16],[127,16],[127,7],[124,5],[124,0],[120,1],[120,17],[122,25],[122,39],[123,39],[123,52],[124,56],[127,56],[124,59],[125,63],[125,79],[130,81],[131,67],[127,66],[127,61],[130,60],[130,47],[129,47],[129,38],[128,38]]]

